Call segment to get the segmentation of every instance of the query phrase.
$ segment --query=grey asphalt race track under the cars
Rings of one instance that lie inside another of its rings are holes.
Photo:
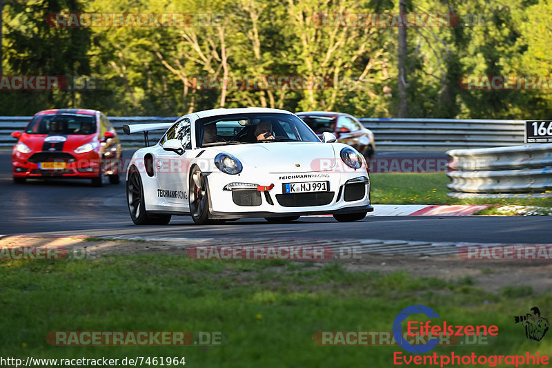
[[[132,151],[126,150],[126,157]],[[165,238],[326,238],[415,240],[502,244],[551,243],[552,217],[394,216],[339,223],[333,217],[301,217],[290,224],[244,219],[196,226],[174,216],[167,226],[135,226],[125,202],[125,185],[90,186],[89,180],[28,180],[14,184],[11,151],[0,151],[0,234],[56,234]],[[445,157],[442,151],[380,151],[377,157]],[[377,211],[377,207],[376,207]]]

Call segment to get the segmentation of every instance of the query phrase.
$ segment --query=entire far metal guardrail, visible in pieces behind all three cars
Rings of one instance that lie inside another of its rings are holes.
[[[22,130],[31,117],[0,117],[0,146],[12,146],[14,130]],[[123,124],[173,122],[177,117],[110,117],[126,146],[140,146],[141,135],[126,135]],[[524,120],[486,119],[359,119],[373,130],[380,148],[483,148],[523,144]],[[150,133],[150,141],[161,137]]]

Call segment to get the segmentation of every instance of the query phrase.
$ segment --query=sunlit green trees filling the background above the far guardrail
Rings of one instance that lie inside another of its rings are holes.
[[[535,118],[547,90],[474,91],[467,75],[551,75],[546,0],[407,1],[408,11],[456,14],[455,27],[408,28],[408,115]],[[55,28],[53,12],[182,13],[185,27]],[[86,75],[88,91],[3,92],[1,115],[53,107],[176,116],[216,107],[339,110],[392,117],[398,106],[397,27],[335,26],[337,14],[396,13],[398,1],[13,0],[3,9],[4,75]],[[319,14],[329,14],[323,26]],[[215,14],[215,17],[213,17]],[[209,21],[205,21],[209,19]],[[475,24],[462,24],[475,20]],[[339,22],[337,22],[339,24]],[[195,77],[324,77],[324,88],[196,88]]]

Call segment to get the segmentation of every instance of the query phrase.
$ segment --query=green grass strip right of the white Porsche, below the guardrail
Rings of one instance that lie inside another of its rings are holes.
[[[373,173],[370,175],[373,204],[500,204],[551,207],[552,198],[473,198],[446,196],[451,180],[446,173]],[[489,213],[493,214],[493,213]]]

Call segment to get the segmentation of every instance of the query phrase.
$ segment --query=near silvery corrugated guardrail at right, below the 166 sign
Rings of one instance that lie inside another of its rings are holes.
[[[552,144],[451,150],[449,197],[552,197]]]

